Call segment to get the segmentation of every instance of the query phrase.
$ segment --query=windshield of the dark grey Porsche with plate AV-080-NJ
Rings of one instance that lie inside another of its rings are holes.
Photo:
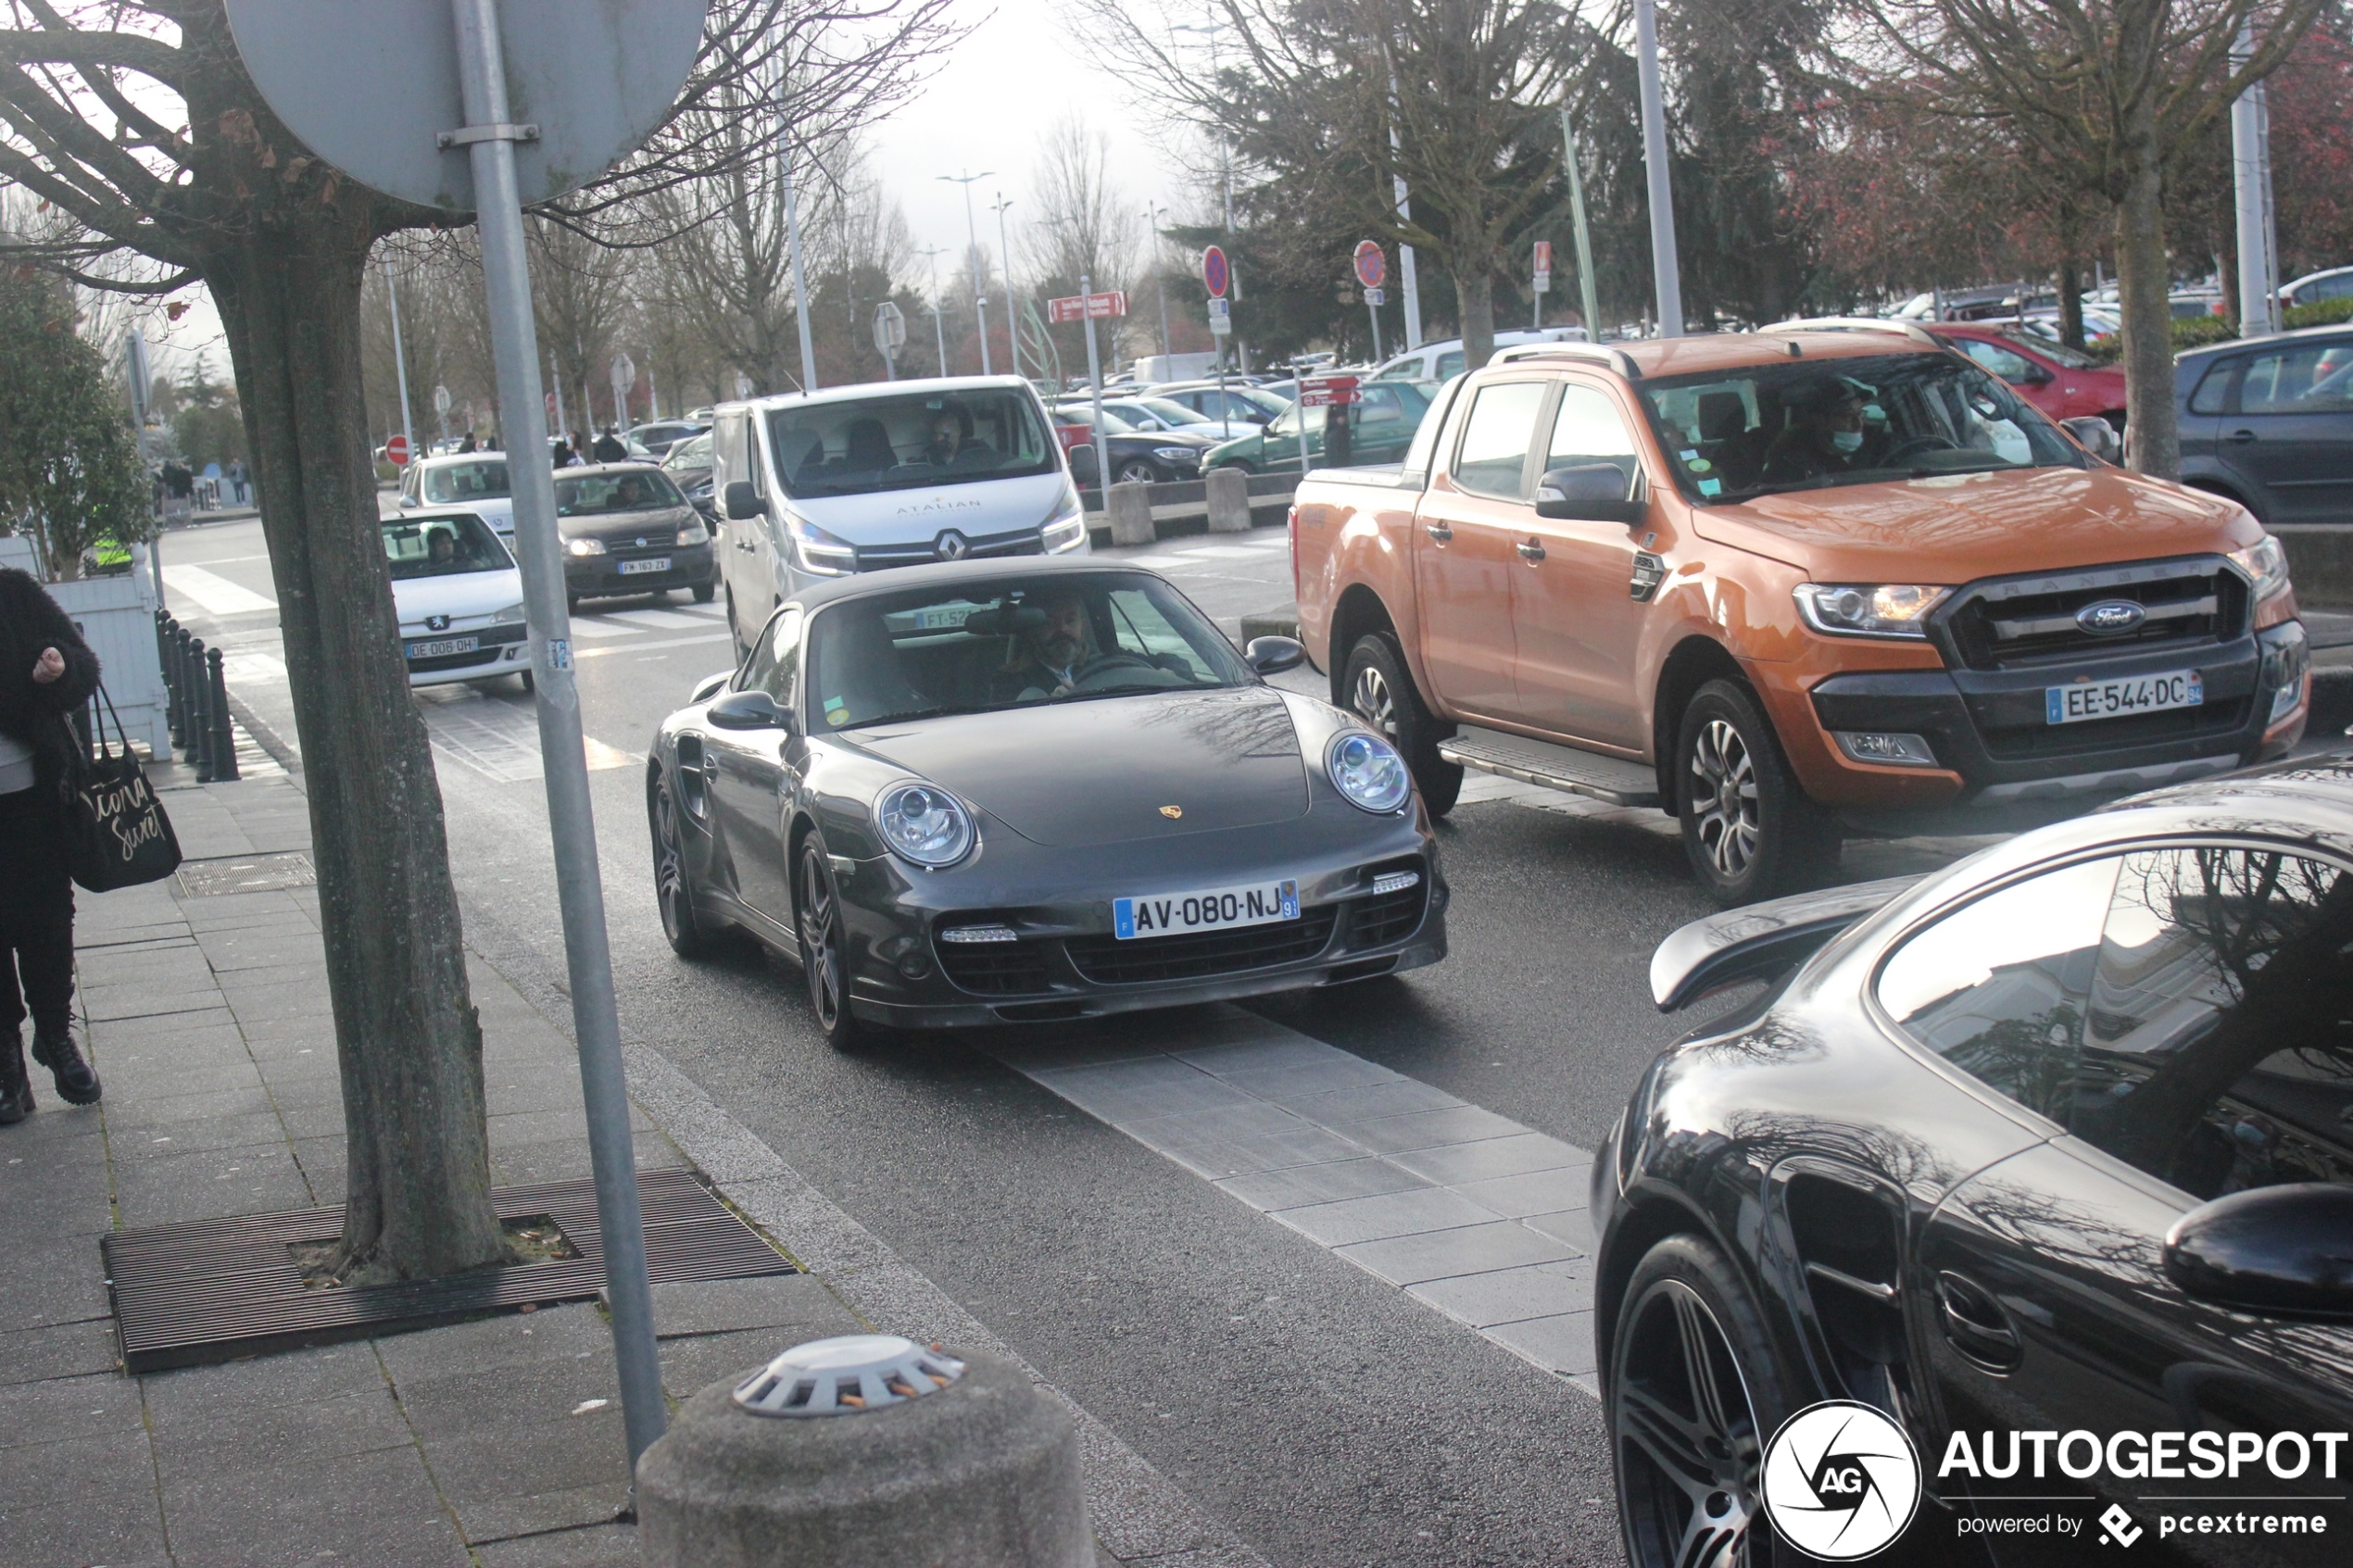
[[[809,628],[809,724],[1242,686],[1247,665],[1160,578],[1104,571],[995,578],[821,609]]]

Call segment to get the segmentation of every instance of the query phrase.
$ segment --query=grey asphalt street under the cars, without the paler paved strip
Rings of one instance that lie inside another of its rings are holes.
[[[1280,531],[1120,555],[1160,564],[1228,630],[1292,597]],[[231,651],[233,693],[292,738],[259,524],[176,531],[162,559],[174,614]],[[993,1041],[925,1037],[845,1058],[819,1041],[788,964],[673,957],[649,889],[642,752],[692,682],[729,663],[727,632],[675,595],[588,604],[574,646],[628,1037],[668,1053],[1273,1563],[1619,1561],[1584,1389],[1007,1070]],[[442,686],[421,703],[468,938],[555,994],[562,936],[529,698]],[[1593,1147],[1640,1067],[1687,1027],[1652,1011],[1645,973],[1659,938],[1706,905],[1657,813],[1506,795],[1466,799],[1442,827],[1447,964],[1257,1011]],[[1857,846],[1849,872],[1925,870],[1965,849]]]

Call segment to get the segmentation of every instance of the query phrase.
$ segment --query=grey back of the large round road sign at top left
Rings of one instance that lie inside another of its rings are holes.
[[[287,129],[362,186],[473,212],[473,160],[435,136],[466,125],[449,0],[224,0],[254,87]],[[694,68],[706,0],[499,0],[522,205],[614,167]]]

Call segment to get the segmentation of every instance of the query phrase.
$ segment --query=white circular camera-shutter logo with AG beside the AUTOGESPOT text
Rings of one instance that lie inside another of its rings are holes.
[[[1920,1509],[1920,1453],[1880,1410],[1831,1399],[1772,1434],[1758,1490],[1788,1544],[1852,1563],[1885,1552],[1911,1526]]]

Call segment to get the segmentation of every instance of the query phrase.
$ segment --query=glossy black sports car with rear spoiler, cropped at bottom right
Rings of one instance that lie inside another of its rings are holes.
[[[1593,1166],[1633,1563],[2348,1561],[2353,755],[1652,959],[1755,980]]]

